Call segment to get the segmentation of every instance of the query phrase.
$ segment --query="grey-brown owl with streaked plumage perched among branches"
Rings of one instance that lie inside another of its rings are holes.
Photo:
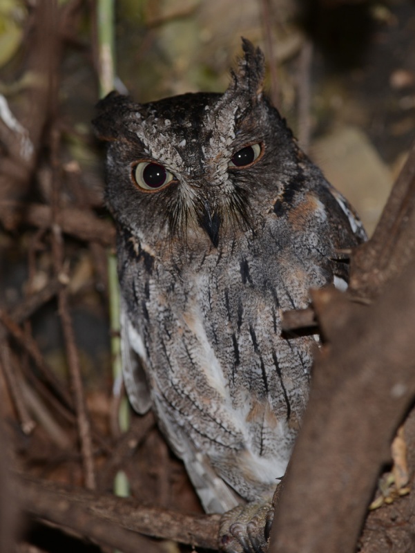
[[[223,93],[138,104],[110,93],[128,397],[153,409],[206,512],[270,496],[309,395],[316,335],[284,335],[310,288],[347,287],[342,250],[365,240],[353,209],[305,156],[244,55]]]

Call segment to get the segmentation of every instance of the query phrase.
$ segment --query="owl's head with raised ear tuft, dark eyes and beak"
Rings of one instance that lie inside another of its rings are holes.
[[[245,39],[242,46],[223,94],[137,104],[110,93],[98,104],[108,205],[151,245],[184,238],[217,247],[225,234],[251,232],[293,177],[296,144],[264,97],[264,56]]]

